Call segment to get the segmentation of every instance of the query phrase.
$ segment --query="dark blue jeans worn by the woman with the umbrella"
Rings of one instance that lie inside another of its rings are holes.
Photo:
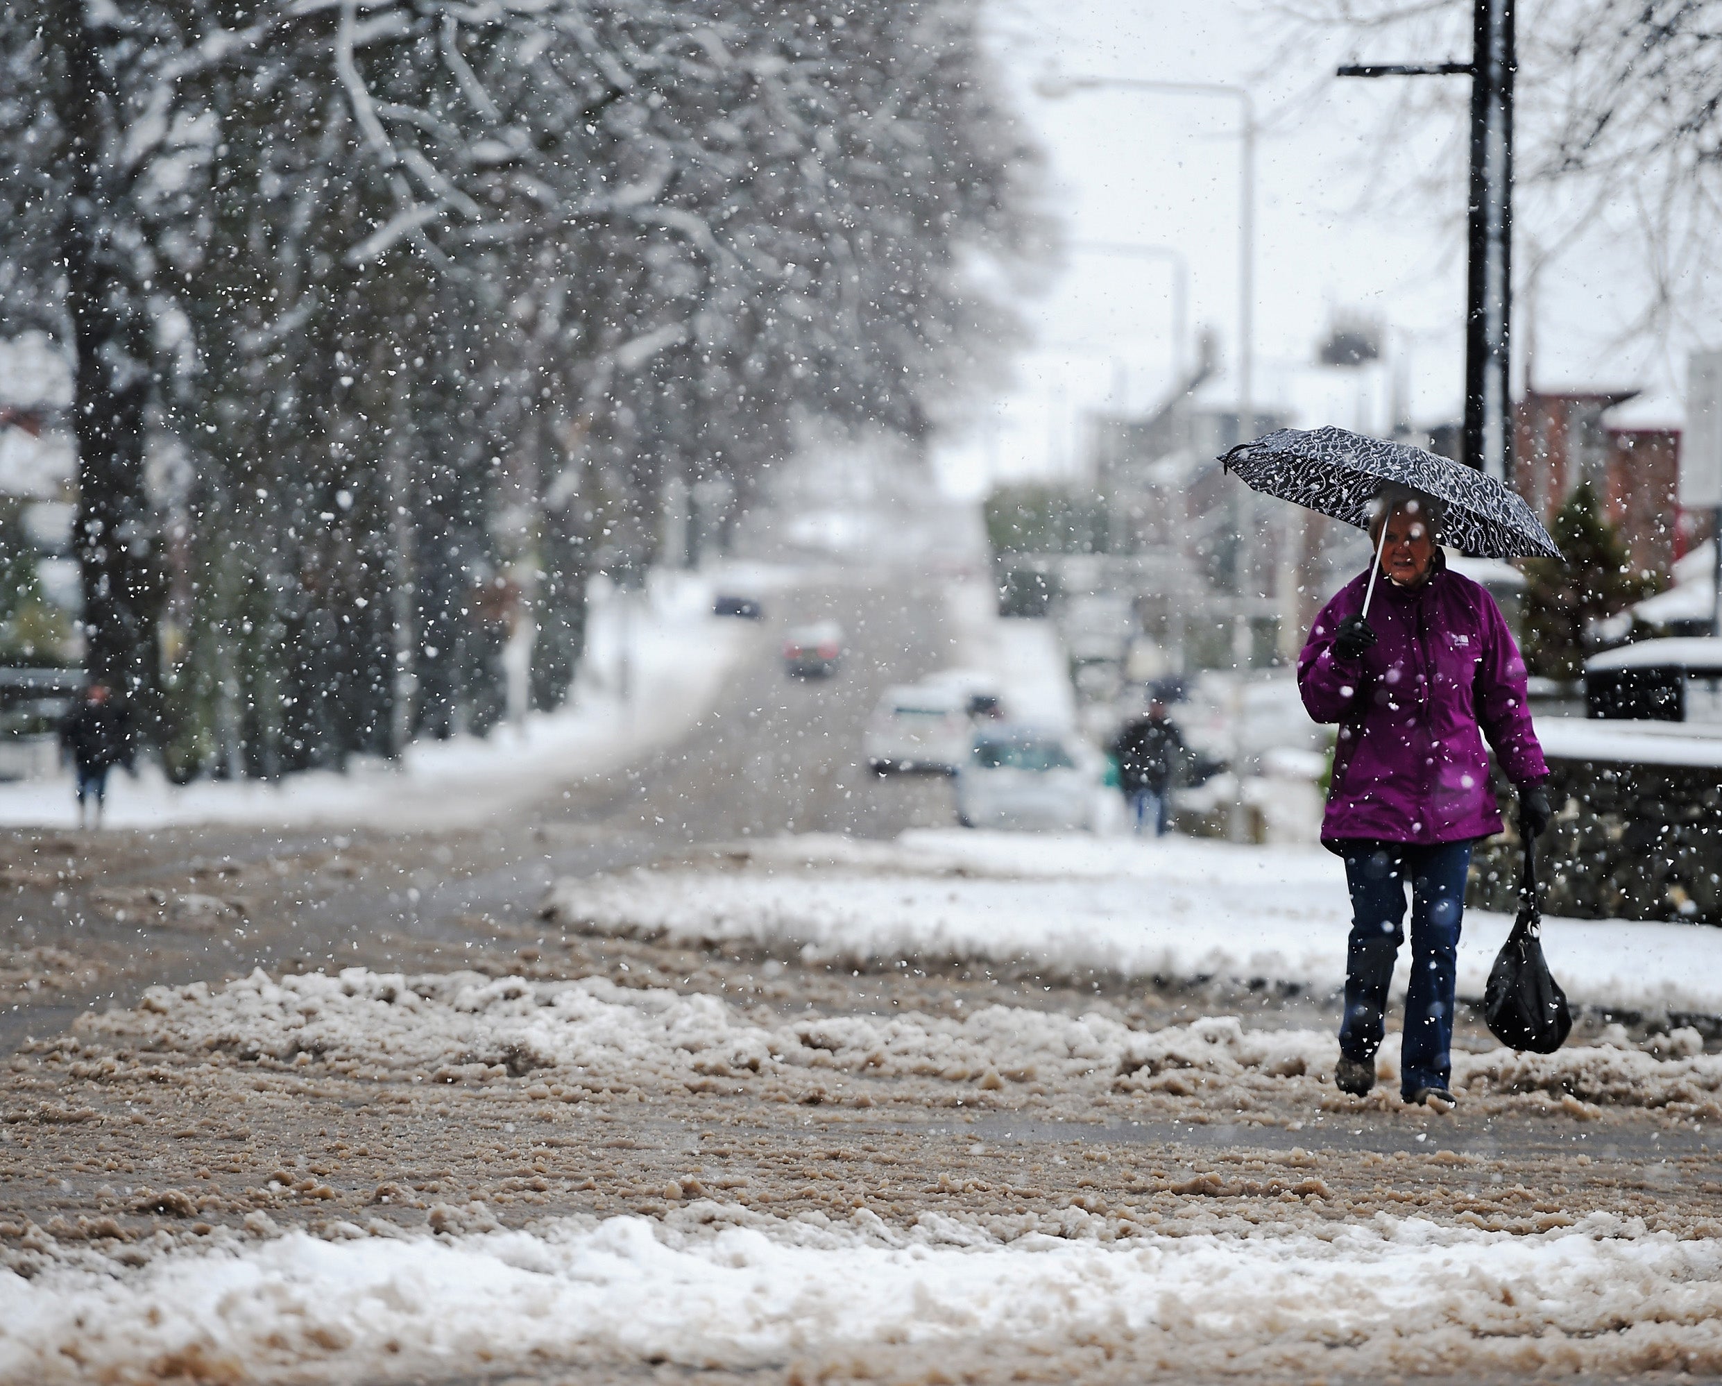
[[[1345,1019],[1340,1052],[1372,1062],[1381,1049],[1393,962],[1405,942],[1410,885],[1410,987],[1400,1045],[1400,1092],[1445,1088],[1453,1076],[1453,966],[1465,914],[1471,842],[1412,847],[1403,842],[1347,842],[1345,883],[1352,892],[1352,937],[1345,956]]]

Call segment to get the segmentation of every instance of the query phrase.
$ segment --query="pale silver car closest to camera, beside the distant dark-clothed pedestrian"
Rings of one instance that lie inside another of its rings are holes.
[[[1062,732],[982,727],[957,766],[957,821],[964,828],[1093,828],[1099,773],[1092,761]]]

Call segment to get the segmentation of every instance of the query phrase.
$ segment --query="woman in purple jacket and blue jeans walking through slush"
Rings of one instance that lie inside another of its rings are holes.
[[[1298,689],[1316,721],[1340,723],[1321,830],[1352,894],[1335,1081],[1357,1097],[1374,1086],[1409,885],[1400,1092],[1450,1111],[1465,875],[1472,844],[1502,830],[1483,739],[1519,790],[1526,832],[1548,826],[1550,804],[1519,647],[1488,591],[1446,568],[1440,522],[1428,498],[1383,496],[1369,529],[1379,554],[1369,616],[1366,572],[1316,618]]]

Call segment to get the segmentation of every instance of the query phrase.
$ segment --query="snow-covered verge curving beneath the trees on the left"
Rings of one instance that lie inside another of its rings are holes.
[[[747,591],[782,573],[749,570]],[[711,615],[713,582],[660,573],[627,615],[615,601],[591,613],[575,701],[530,713],[489,737],[415,742],[398,764],[355,764],[346,773],[307,771],[277,783],[245,780],[169,783],[155,766],[136,780],[108,778],[112,828],[176,823],[370,825],[451,828],[548,794],[570,778],[608,775],[689,732],[716,697],[754,627]],[[618,696],[627,646],[629,697]],[[74,826],[71,780],[0,785],[0,825]]]

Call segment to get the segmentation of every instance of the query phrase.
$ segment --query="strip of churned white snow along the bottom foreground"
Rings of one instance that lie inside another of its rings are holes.
[[[1002,1241],[696,1203],[678,1224],[560,1219],[463,1236],[303,1233],[0,1272],[0,1381],[353,1379],[546,1360],[754,1367],[1092,1350],[1181,1372],[1722,1369],[1722,1243],[1593,1214],[1514,1236],[1362,1226]],[[1050,1360],[1049,1360],[1050,1357]],[[923,1364],[925,1365],[925,1364]],[[925,1379],[925,1377],[918,1377]],[[945,1376],[944,1379],[951,1379]]]

